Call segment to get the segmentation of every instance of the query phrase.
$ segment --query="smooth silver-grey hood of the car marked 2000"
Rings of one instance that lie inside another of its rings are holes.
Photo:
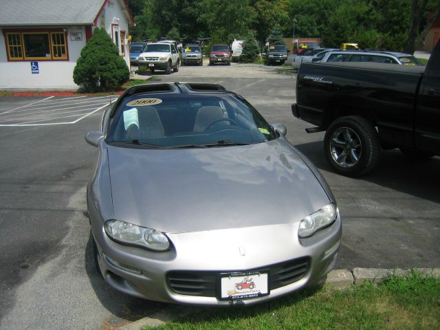
[[[277,139],[197,149],[108,147],[114,218],[162,232],[294,223],[329,203]]]

